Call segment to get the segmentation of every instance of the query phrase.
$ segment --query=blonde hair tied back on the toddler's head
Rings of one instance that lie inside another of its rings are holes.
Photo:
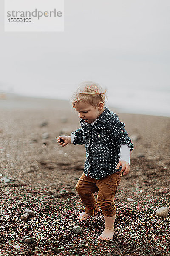
[[[73,108],[75,109],[75,105],[78,102],[88,102],[94,107],[96,107],[99,102],[105,104],[105,101],[108,99],[105,94],[106,92],[106,89],[104,91],[103,88],[95,82],[83,81],[79,84],[79,87],[71,97]]]

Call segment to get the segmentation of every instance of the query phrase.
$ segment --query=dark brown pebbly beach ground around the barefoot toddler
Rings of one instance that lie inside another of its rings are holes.
[[[134,150],[115,197],[115,235],[97,241],[104,228],[101,209],[87,221],[76,219],[83,211],[75,186],[85,147],[61,147],[56,140],[80,127],[76,111],[64,100],[0,99],[0,178],[10,180],[0,182],[0,256],[170,255],[170,214],[155,214],[170,209],[170,118],[109,109],[125,123]],[[24,209],[35,212],[27,222],[20,219]],[[83,232],[75,234],[74,225]],[[24,243],[24,236],[34,242]]]

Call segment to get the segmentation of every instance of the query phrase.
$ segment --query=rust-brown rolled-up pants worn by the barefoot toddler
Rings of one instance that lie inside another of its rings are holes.
[[[107,175],[101,179],[85,176],[79,178],[76,190],[85,206],[85,213],[95,215],[99,208],[94,193],[98,192],[97,203],[102,208],[103,215],[112,217],[116,214],[114,196],[121,181],[122,171]]]

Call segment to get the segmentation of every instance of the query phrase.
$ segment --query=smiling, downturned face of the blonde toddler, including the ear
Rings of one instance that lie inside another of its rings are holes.
[[[80,118],[91,124],[104,111],[104,103],[99,102],[97,107],[94,107],[88,102],[78,102],[75,109],[77,110]]]

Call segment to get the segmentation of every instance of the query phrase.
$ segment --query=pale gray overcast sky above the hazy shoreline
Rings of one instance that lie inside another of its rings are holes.
[[[1,87],[67,99],[92,80],[111,97],[170,93],[169,0],[65,0],[64,32],[4,32],[2,1],[0,12]]]

